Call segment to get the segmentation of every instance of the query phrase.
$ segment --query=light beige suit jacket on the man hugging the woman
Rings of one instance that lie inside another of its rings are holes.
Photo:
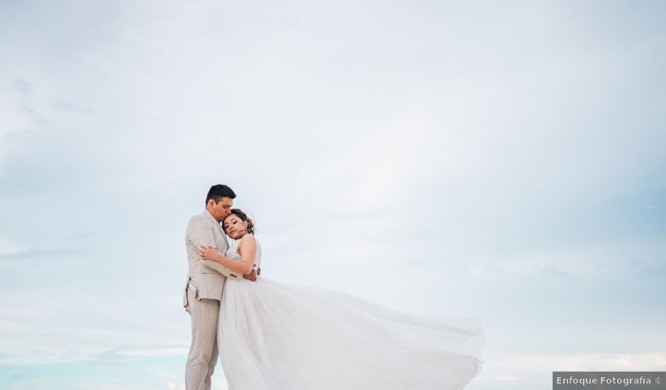
[[[208,211],[193,216],[187,225],[185,247],[189,269],[188,283],[196,289],[196,299],[222,299],[222,289],[227,277],[242,278],[243,275],[232,271],[224,265],[209,260],[201,260],[199,247],[211,245],[224,254],[229,249],[227,236],[220,223]],[[187,284],[185,289],[187,290]],[[184,294],[183,306],[187,307],[187,291]]]

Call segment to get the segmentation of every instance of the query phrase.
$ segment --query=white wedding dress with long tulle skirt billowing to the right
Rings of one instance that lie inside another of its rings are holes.
[[[239,241],[227,257],[240,259]],[[265,277],[227,278],[218,329],[230,390],[463,389],[482,339],[475,320],[409,316]]]

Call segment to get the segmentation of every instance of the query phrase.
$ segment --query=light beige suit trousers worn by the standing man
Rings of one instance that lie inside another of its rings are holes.
[[[192,321],[192,342],[185,366],[186,390],[210,390],[210,376],[218,362],[220,301],[199,299],[196,287],[187,286],[187,306]]]

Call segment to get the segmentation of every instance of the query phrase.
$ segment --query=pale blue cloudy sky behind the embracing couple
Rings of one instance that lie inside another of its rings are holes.
[[[0,387],[184,389],[184,230],[218,183],[264,277],[478,318],[470,390],[666,371],[665,18],[0,1]]]

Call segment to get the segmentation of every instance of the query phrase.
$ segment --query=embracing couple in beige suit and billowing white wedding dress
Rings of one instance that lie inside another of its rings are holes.
[[[478,321],[257,277],[261,247],[235,197],[212,186],[186,231],[186,389],[210,389],[218,355],[230,390],[453,390],[479,372]]]

